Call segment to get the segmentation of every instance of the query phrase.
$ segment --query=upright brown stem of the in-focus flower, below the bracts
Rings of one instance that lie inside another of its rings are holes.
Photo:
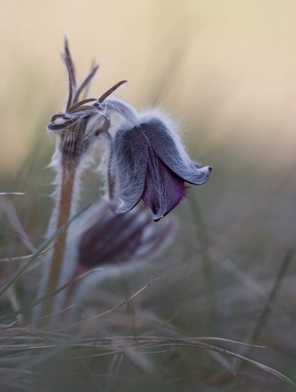
[[[59,229],[67,221],[69,221],[70,218],[71,206],[73,203],[73,188],[76,178],[76,170],[79,165],[79,159],[77,157],[72,157],[67,160],[62,159],[61,165],[62,176],[60,185],[60,196],[58,201],[57,222],[55,227],[56,230]],[[64,233],[61,235],[60,240],[54,247],[45,295],[53,292],[57,288],[64,257],[66,237],[67,230],[64,231]],[[54,296],[43,302],[40,317],[52,313],[53,306]],[[46,320],[43,319],[42,322],[44,323],[46,322]],[[42,326],[44,326],[44,324]]]

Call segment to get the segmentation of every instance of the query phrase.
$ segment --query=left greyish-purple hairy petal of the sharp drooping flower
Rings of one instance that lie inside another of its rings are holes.
[[[116,214],[124,214],[135,207],[144,192],[148,152],[139,126],[119,129],[113,143],[111,171],[115,171],[118,178],[118,189],[115,187],[114,194],[120,201]]]

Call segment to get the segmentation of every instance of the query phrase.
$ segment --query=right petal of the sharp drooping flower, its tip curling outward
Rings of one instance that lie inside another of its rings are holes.
[[[161,161],[184,181],[190,184],[202,185],[208,181],[211,168],[202,167],[192,162],[185,151],[179,150],[167,127],[159,119],[140,124]]]

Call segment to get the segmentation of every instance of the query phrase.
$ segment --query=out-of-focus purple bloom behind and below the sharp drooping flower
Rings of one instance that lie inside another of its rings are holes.
[[[176,225],[171,220],[156,227],[143,208],[137,206],[127,214],[115,215],[110,207],[101,203],[83,230],[79,245],[80,272],[151,257],[174,236]]]

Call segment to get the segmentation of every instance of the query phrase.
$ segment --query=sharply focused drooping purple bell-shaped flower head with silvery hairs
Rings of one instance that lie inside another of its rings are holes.
[[[211,168],[192,162],[170,125],[154,116],[138,116],[118,128],[112,143],[109,177],[117,214],[131,210],[142,198],[159,221],[175,208],[185,183],[204,184]]]

